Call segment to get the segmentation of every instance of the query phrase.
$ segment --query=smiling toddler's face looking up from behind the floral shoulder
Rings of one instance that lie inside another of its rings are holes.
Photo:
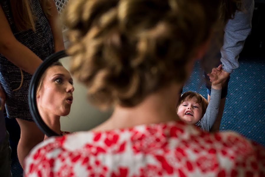
[[[202,106],[197,103],[197,99],[194,96],[178,106],[177,114],[180,120],[188,124],[196,124],[203,117]]]

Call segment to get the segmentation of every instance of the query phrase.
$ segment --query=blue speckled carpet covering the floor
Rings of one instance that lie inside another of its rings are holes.
[[[183,92],[197,91],[207,98],[204,75],[196,63]],[[240,60],[240,67],[232,74],[220,130],[233,130],[265,146],[265,80],[264,59]],[[13,177],[22,176],[22,168],[13,158]]]

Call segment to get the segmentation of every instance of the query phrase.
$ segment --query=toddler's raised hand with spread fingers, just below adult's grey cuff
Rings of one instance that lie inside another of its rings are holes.
[[[207,75],[210,77],[213,89],[221,89],[222,83],[226,81],[230,73],[224,71],[222,65],[219,65],[218,68],[213,68],[212,72]]]

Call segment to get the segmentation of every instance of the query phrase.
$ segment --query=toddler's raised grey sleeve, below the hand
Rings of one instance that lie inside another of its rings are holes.
[[[221,91],[222,89],[216,90],[212,88],[211,98],[210,98],[208,107],[206,109],[206,112],[203,118],[201,118],[201,129],[202,130],[209,132],[218,116],[219,104],[220,104],[220,99],[221,99]]]

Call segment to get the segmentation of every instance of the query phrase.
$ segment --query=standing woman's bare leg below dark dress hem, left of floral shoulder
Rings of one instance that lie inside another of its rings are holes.
[[[29,154],[30,150],[44,139],[44,133],[37,127],[34,122],[27,120],[16,119],[21,130],[19,143],[17,146],[17,156],[19,163],[23,168],[25,157]]]

